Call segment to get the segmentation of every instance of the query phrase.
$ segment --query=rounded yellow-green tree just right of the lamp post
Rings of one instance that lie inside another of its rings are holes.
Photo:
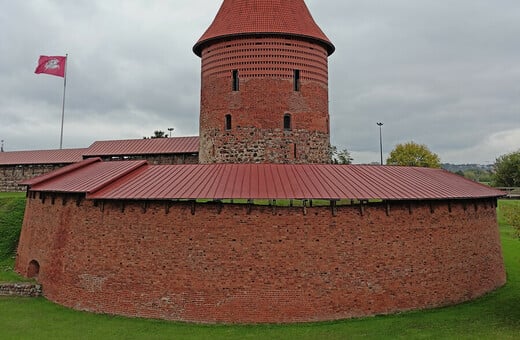
[[[386,160],[388,165],[420,166],[426,168],[440,168],[439,156],[428,149],[424,144],[408,142],[397,144]]]

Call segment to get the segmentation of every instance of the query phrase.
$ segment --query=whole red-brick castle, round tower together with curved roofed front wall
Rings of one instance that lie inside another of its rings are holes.
[[[440,169],[324,164],[334,46],[303,0],[224,0],[193,50],[202,164],[106,162],[172,149],[98,142],[22,183],[16,270],[46,298],[283,323],[445,306],[505,283],[501,191]]]

